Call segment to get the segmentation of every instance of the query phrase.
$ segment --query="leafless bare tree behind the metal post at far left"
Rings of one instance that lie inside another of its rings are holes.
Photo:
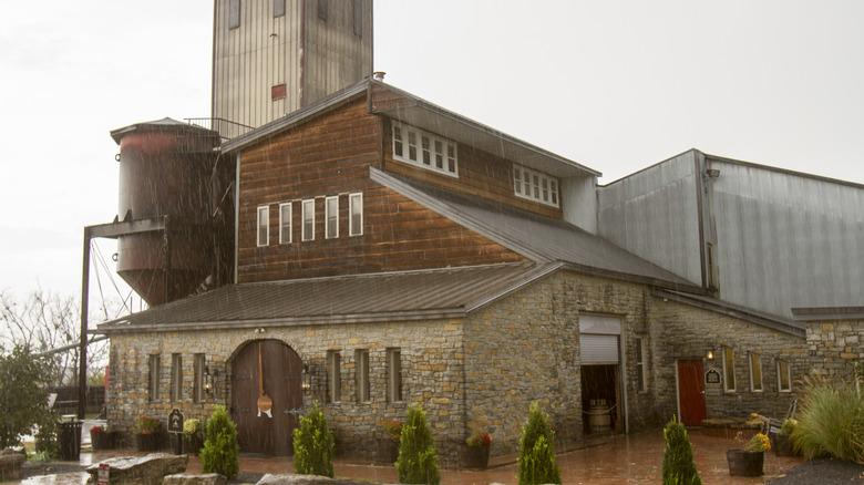
[[[0,290],[0,342],[44,352],[78,343],[81,331],[76,297],[62,297],[38,288],[22,301]],[[72,385],[78,381],[79,348],[50,355],[51,382]],[[97,374],[107,361],[107,343],[88,347],[88,374]],[[90,375],[89,375],[90,376]]]

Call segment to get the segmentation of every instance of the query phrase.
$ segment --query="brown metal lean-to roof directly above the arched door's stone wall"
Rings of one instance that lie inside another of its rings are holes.
[[[229,285],[102,323],[95,333],[464,317],[558,268],[521,262]]]

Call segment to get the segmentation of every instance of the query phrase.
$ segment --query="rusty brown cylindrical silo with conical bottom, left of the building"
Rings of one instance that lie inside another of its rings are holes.
[[[120,145],[120,221],[161,230],[117,238],[117,274],[150,305],[195,291],[214,274],[209,184],[218,133],[171,118],[111,132]]]

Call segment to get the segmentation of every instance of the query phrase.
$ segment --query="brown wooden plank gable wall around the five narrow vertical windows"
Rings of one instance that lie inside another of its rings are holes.
[[[381,122],[360,99],[247,148],[240,156],[238,280],[267,281],[428,269],[526,258],[369,178]],[[349,194],[363,194],[363,234],[348,236]],[[339,237],[325,238],[325,197],[339,195]],[[301,204],[315,199],[315,240],[301,240]],[[279,204],[292,237],[279,244]],[[257,207],[270,207],[269,245],[256,246]]]

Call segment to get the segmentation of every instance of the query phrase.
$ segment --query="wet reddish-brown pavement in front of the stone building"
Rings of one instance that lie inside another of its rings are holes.
[[[726,450],[737,447],[731,438],[704,436],[701,431],[689,431],[695,446],[696,465],[706,484],[762,484],[768,478],[782,475],[786,469],[803,462],[801,457],[776,456],[765,453],[764,475],[761,477],[730,476],[726,462]],[[86,434],[86,433],[82,433]],[[89,436],[88,436],[89,442]],[[88,443],[89,444],[89,443]],[[583,445],[585,446],[585,445]],[[567,484],[657,484],[662,482],[664,458],[662,430],[632,435],[609,436],[578,450],[558,447],[557,463],[562,468],[562,481]],[[168,451],[165,451],[168,452]],[[81,465],[99,463],[113,456],[143,456],[132,450],[92,452],[82,450]],[[516,484],[516,455],[490,460],[485,471],[442,469],[441,483],[453,485],[486,485],[500,483]],[[290,474],[294,464],[289,457],[240,457],[240,471],[248,473]],[[398,483],[393,466],[373,466],[356,461],[336,460],[336,476],[372,483]],[[187,472],[200,472],[200,458],[189,457]],[[31,477],[24,484],[83,484],[86,474]]]

